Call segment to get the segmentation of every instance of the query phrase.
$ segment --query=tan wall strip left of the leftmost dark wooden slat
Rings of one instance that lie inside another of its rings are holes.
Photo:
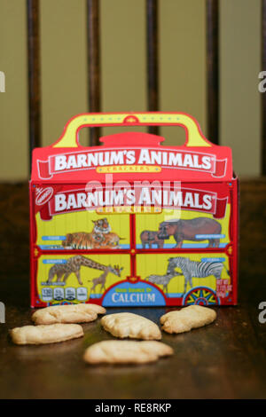
[[[0,180],[27,177],[27,44],[25,2],[0,0]]]

